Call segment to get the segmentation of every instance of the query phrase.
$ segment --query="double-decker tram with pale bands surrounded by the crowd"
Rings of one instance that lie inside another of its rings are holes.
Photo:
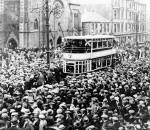
[[[82,74],[110,67],[117,51],[111,35],[64,37],[63,71]]]

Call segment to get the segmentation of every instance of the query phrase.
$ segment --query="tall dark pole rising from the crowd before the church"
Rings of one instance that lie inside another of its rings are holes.
[[[50,68],[50,55],[49,55],[49,2],[45,1],[46,4],[46,36],[47,36],[47,64],[48,68]]]

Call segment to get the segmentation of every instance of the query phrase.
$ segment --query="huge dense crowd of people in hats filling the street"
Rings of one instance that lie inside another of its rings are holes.
[[[63,77],[44,52],[3,54],[1,130],[150,130],[148,58]]]

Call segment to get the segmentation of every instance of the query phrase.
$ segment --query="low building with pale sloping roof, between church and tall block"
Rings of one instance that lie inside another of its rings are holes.
[[[85,11],[82,15],[82,34],[83,35],[97,35],[110,34],[111,23],[109,20],[99,15],[95,11]]]

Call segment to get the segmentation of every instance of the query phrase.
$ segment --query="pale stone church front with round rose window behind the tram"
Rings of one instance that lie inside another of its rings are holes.
[[[46,47],[45,0],[20,0],[19,47]],[[80,5],[70,0],[49,0],[50,47],[68,35],[80,35]]]

